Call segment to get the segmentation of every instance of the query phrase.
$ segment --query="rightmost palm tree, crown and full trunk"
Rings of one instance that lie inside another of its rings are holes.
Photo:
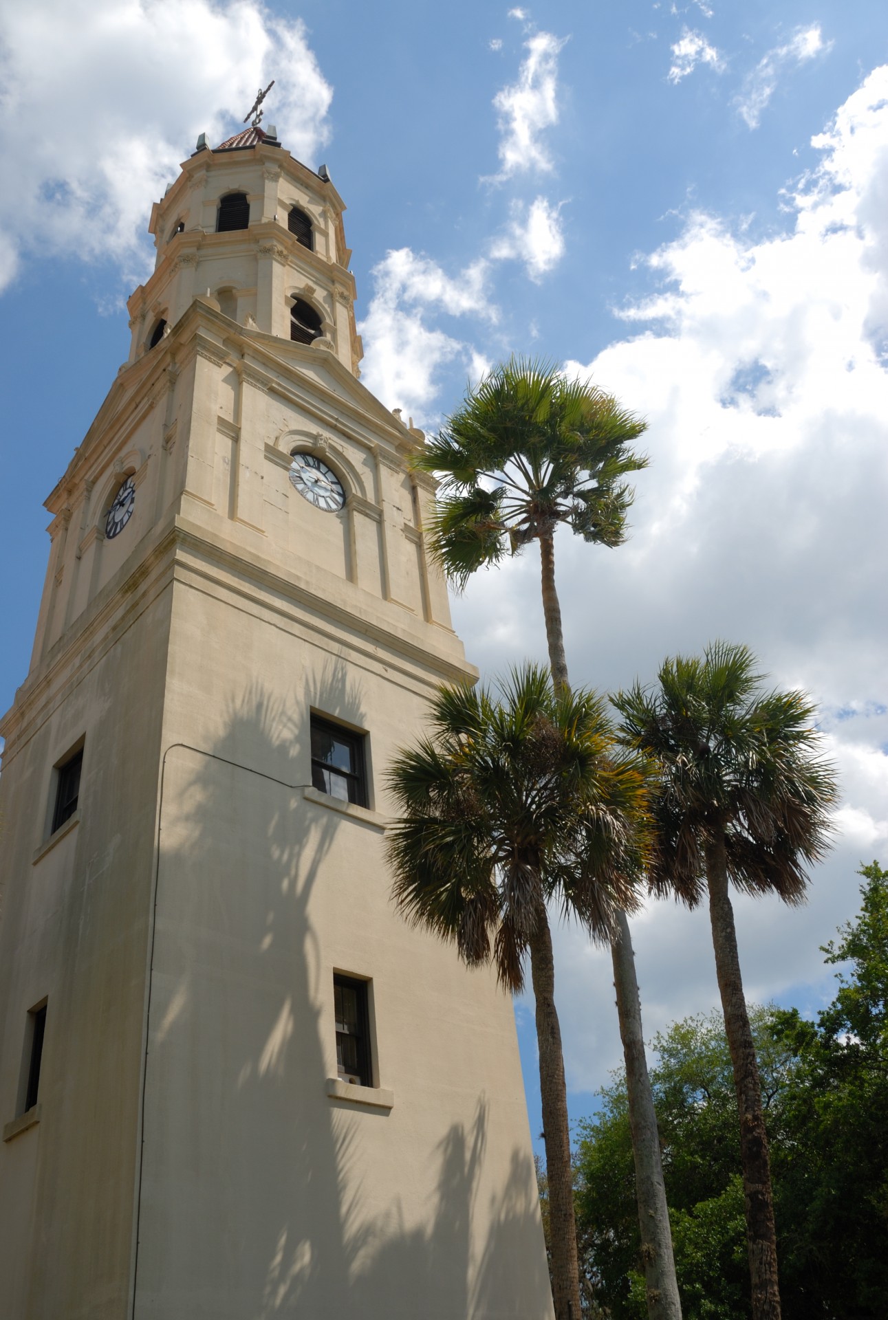
[[[613,702],[624,743],[659,764],[655,894],[694,907],[708,894],[715,966],[740,1117],[753,1320],[780,1320],[774,1210],[758,1064],[743,993],[729,883],[801,903],[829,843],[832,767],[814,755],[814,708],[764,692],[747,647],[715,643],[666,660],[654,690]]]

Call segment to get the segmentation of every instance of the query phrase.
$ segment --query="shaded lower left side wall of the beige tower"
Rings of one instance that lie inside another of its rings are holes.
[[[120,1320],[132,1261],[169,582],[26,689],[0,779],[0,1315]],[[85,737],[78,812],[46,847],[53,766]],[[38,1122],[15,1131],[46,999]]]

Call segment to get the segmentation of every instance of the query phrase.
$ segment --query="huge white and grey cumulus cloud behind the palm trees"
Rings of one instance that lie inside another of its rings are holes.
[[[818,945],[856,908],[856,867],[888,859],[888,66],[813,143],[822,162],[785,232],[691,215],[649,255],[659,288],[624,309],[632,334],[570,364],[646,414],[651,466],[625,546],[556,541],[574,681],[650,681],[720,636],[818,702],[835,850],[806,907],[736,900],[749,997],[807,1011],[830,993]],[[485,669],[544,659],[538,574],[525,553],[456,602]],[[718,1003],[704,912],[650,904],[633,937],[649,1034]],[[556,960],[571,1086],[593,1089],[620,1061],[609,958],[560,928]]]

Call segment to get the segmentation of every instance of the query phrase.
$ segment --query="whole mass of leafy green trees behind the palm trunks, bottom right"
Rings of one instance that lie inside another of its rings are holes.
[[[881,1320],[888,1296],[888,871],[864,866],[862,909],[825,946],[839,972],[817,1020],[749,1006],[774,1181],[786,1320]],[[854,1023],[854,1027],[851,1026]],[[687,1320],[747,1320],[740,1135],[720,1014],[654,1038],[675,1263]],[[644,1315],[636,1272],[626,1090],[580,1125],[580,1269],[613,1320]]]

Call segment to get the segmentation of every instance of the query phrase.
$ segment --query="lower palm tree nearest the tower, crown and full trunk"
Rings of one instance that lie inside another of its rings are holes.
[[[440,689],[431,734],[388,772],[403,813],[387,834],[388,859],[408,920],[453,941],[469,966],[492,961],[514,994],[530,954],[556,1320],[580,1320],[580,1291],[546,903],[597,939],[612,936],[618,909],[637,906],[646,767],[613,747],[600,698],[555,692],[546,671],[527,667],[500,700],[484,688]]]

